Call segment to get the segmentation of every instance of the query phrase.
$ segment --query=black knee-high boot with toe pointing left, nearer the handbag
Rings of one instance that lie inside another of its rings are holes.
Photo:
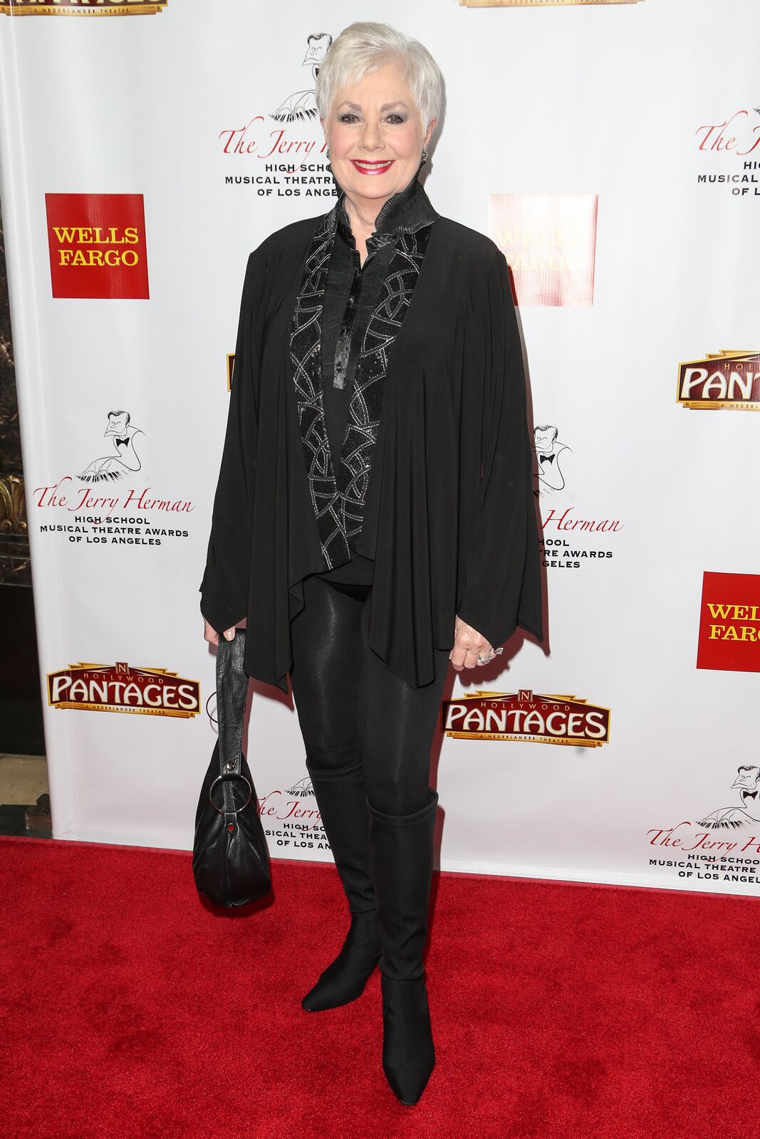
[[[377,966],[381,944],[361,761],[332,769],[307,764],[307,770],[351,912],[341,952],[301,1001],[302,1008],[316,1013],[348,1005],[361,995]]]

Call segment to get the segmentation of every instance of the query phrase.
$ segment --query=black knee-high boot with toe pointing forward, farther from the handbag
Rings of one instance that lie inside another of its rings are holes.
[[[382,953],[383,1071],[402,1104],[416,1104],[435,1064],[423,948],[433,875],[438,792],[412,814],[367,803]]]

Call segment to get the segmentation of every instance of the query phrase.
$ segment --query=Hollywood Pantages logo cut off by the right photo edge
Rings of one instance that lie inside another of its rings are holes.
[[[708,352],[678,366],[678,402],[692,410],[760,411],[760,352]]]

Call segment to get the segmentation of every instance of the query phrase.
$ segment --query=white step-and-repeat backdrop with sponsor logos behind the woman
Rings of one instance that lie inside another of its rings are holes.
[[[332,208],[352,19],[444,73],[425,188],[504,251],[530,377],[549,637],[451,672],[440,865],[760,894],[757,0],[0,3],[54,836],[193,845],[243,276]],[[291,699],[250,704],[272,855],[330,859]]]

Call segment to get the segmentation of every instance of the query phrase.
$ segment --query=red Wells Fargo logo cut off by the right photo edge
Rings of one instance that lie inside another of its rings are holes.
[[[760,575],[705,573],[697,669],[760,672]]]

